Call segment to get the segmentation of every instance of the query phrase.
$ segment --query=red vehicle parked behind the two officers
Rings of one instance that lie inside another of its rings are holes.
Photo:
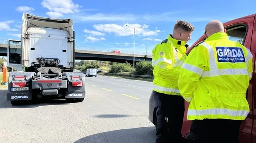
[[[254,66],[255,66],[255,53],[256,53],[256,14],[248,15],[238,19],[231,20],[229,22],[223,23],[226,28],[226,33],[230,40],[238,41],[248,49],[251,50],[253,54],[253,77],[250,81],[248,90],[246,92],[246,99],[250,106],[250,112],[243,121],[240,127],[240,143],[256,143],[256,78],[254,77]],[[204,36],[201,36],[191,47],[198,44],[199,42],[205,40]],[[187,55],[192,48],[189,48]],[[153,93],[153,92],[152,92]],[[155,126],[156,124],[156,108],[153,99],[153,94],[149,98],[149,116],[148,119]],[[183,118],[182,136],[184,137],[184,143],[187,143],[186,136],[189,134],[191,121],[187,120],[187,110],[189,103],[185,101],[185,114]]]

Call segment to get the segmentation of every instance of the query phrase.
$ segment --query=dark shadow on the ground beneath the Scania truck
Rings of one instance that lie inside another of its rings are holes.
[[[36,108],[39,106],[58,105],[58,104],[72,104],[65,99],[50,100],[43,99],[41,101],[21,101],[19,105],[12,105],[10,101],[7,101],[8,90],[0,90],[0,109],[3,108]]]

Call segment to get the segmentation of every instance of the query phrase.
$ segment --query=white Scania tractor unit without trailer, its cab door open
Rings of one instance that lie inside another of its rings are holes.
[[[10,72],[7,100],[66,99],[83,102],[85,75],[74,72],[75,32],[72,19],[23,14],[20,40],[8,40]]]

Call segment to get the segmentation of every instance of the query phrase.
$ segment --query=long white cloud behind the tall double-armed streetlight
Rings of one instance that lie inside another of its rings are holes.
[[[131,26],[131,27],[127,27]],[[130,36],[133,35],[134,29],[132,27],[141,27],[142,28],[136,28],[135,34],[140,36],[155,36],[158,35],[160,32],[159,30],[156,31],[150,31],[148,29],[148,25],[146,24],[94,24],[93,27],[100,31],[100,32],[108,32],[108,33],[114,33],[116,36]]]

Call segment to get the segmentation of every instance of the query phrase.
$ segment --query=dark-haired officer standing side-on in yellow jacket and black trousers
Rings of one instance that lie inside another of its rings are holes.
[[[156,106],[156,143],[179,143],[184,99],[178,90],[178,74],[186,58],[186,42],[194,27],[178,21],[173,34],[153,48],[153,97]]]

